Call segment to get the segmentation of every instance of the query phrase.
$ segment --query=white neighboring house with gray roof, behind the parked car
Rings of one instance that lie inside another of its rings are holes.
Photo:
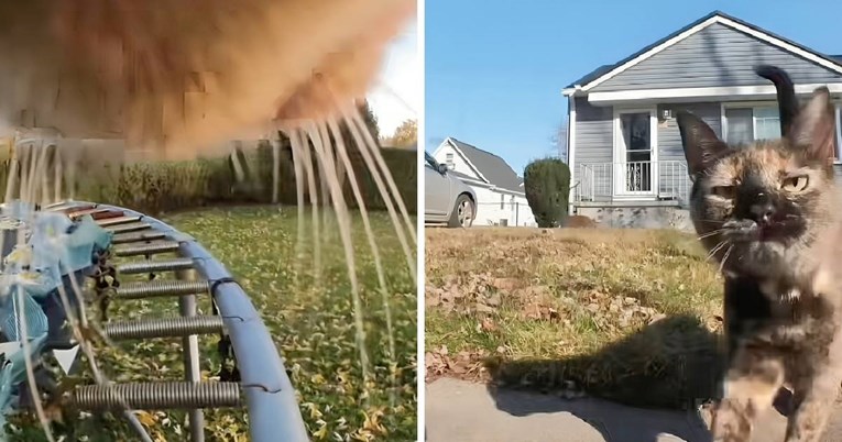
[[[536,226],[523,178],[503,158],[448,137],[431,153],[477,194],[473,225]]]

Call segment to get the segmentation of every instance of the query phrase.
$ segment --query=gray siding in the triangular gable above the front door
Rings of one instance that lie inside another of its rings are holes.
[[[842,82],[842,75],[838,73],[724,24],[714,23],[591,90],[608,92],[767,84],[754,73],[757,64],[770,64],[785,69],[796,85]]]

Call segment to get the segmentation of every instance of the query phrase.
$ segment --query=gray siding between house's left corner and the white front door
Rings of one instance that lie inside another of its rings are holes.
[[[612,107],[595,107],[588,102],[587,97],[576,98],[576,150],[571,184],[576,186],[582,180],[581,165],[611,164],[614,159],[614,110]],[[605,174],[597,174],[593,183],[597,189],[608,189],[610,178]]]

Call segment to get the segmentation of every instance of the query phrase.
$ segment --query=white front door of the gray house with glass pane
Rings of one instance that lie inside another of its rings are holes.
[[[655,194],[657,167],[653,141],[656,124],[654,111],[617,113],[614,129],[615,195]]]

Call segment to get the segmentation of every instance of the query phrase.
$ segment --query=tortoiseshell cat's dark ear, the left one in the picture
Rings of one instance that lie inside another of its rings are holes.
[[[689,167],[690,178],[704,173],[722,153],[730,147],[723,143],[710,126],[700,118],[687,111],[676,113],[681,145]]]

